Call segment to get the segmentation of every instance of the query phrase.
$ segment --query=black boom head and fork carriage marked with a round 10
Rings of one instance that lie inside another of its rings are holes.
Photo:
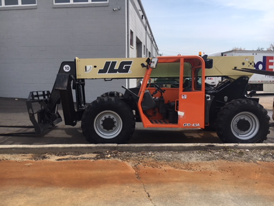
[[[70,71],[64,71],[64,67],[69,67]],[[62,122],[62,117],[58,113],[60,103],[62,103],[66,125],[75,126],[77,121],[82,119],[86,108],[85,82],[82,79],[77,80],[75,76],[75,62],[62,62],[51,92],[32,91],[29,93],[26,102],[27,111],[36,134],[40,134],[47,128],[51,128],[55,124]],[[75,89],[76,111],[73,103],[72,89]],[[38,106],[40,105],[40,109],[34,112],[34,106],[37,107],[37,104]]]

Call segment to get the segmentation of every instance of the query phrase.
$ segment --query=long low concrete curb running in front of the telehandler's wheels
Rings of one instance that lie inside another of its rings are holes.
[[[2,145],[0,154],[40,154],[56,152],[94,153],[117,150],[120,152],[142,151],[190,151],[221,149],[274,149],[274,144],[49,144],[49,145]]]

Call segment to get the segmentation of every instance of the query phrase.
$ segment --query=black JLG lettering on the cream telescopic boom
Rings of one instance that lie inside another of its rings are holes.
[[[117,61],[105,62],[105,66],[103,69],[99,69],[98,73],[130,73],[132,61],[122,61],[118,69],[115,69],[116,64]]]

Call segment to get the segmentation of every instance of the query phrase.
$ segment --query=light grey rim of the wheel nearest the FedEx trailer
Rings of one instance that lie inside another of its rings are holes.
[[[258,133],[260,123],[253,113],[242,112],[232,119],[231,128],[235,137],[246,140],[251,139]]]

